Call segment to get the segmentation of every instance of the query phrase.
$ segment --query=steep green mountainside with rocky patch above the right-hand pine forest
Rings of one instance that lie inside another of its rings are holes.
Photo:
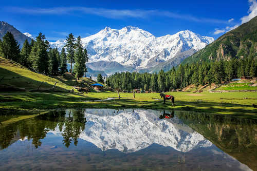
[[[182,64],[199,61],[229,61],[234,58],[256,58],[256,56],[257,16],[222,35],[204,49],[187,58]]]

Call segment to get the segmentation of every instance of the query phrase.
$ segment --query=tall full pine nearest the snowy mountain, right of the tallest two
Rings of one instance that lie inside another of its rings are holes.
[[[80,36],[78,37],[76,42],[74,72],[76,73],[77,79],[83,77],[83,74],[85,72],[85,54],[83,53],[83,47]]]

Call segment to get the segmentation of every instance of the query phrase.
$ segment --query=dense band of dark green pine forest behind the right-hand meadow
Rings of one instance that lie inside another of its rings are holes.
[[[121,72],[107,78],[106,84],[113,88],[134,89],[152,91],[170,91],[194,84],[222,84],[246,75],[257,77],[257,60],[253,57],[240,60],[197,62],[174,67],[168,72],[161,70],[157,73]]]

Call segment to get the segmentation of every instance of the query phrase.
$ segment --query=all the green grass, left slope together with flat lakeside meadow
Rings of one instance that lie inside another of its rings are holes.
[[[63,90],[73,89],[75,79],[65,77],[48,77],[43,74],[34,73],[23,66],[0,57],[0,85],[24,88],[25,90],[36,89],[44,81],[42,89],[51,88],[57,82],[57,88]],[[79,81],[83,86],[94,83],[93,80],[83,78]],[[244,84],[244,83],[243,83]],[[244,85],[243,85],[244,86]],[[233,87],[243,87],[235,86]],[[232,87],[232,86],[230,86]],[[193,88],[194,89],[194,88]],[[163,104],[159,93],[136,93],[135,99],[132,93],[120,93],[121,99],[88,102],[99,99],[117,98],[116,92],[30,92],[12,91],[1,92],[0,110],[49,110],[57,108],[147,108],[147,109],[175,109],[199,111],[208,113],[221,113],[233,115],[247,115],[257,117],[256,92],[227,92],[227,93],[203,93],[192,92],[166,92],[175,97],[175,105],[171,101]]]

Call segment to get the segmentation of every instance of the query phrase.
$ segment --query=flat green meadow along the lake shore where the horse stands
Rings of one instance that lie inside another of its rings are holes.
[[[0,110],[34,111],[65,108],[143,108],[257,117],[257,108],[253,108],[252,106],[252,104],[257,104],[256,92],[166,92],[166,94],[172,94],[175,97],[175,106],[171,106],[171,101],[163,104],[159,93],[137,93],[135,99],[132,93],[120,93],[121,99],[94,102],[94,100],[117,98],[117,93],[111,91],[90,92],[88,94],[5,92],[0,93]]]

